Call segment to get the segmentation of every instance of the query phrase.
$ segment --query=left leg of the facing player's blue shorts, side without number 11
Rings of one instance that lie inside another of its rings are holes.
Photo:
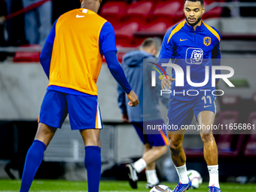
[[[169,109],[167,113],[167,130],[177,131],[189,125],[193,119],[192,102],[184,102],[170,98]]]

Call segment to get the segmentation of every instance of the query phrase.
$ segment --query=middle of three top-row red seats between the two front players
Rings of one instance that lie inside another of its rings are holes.
[[[129,21],[146,21],[148,15],[153,7],[153,2],[133,2],[130,6],[126,8],[126,13],[124,14],[125,20]]]

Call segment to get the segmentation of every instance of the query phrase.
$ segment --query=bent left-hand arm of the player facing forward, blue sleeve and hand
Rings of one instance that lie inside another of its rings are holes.
[[[163,38],[163,44],[160,50],[159,59],[157,62],[157,69],[160,72],[156,72],[157,77],[161,80],[161,87],[164,90],[167,90],[167,87],[169,89],[171,88],[171,81],[175,81],[175,79],[171,78],[169,75],[166,74],[166,67],[162,66],[162,63],[169,63],[169,59],[173,57],[174,53],[174,46],[172,43],[172,39],[169,40],[169,35],[171,34],[172,29],[170,29],[168,32],[166,32],[166,35],[164,35]]]

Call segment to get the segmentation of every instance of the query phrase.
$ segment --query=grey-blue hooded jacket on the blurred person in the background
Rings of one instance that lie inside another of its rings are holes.
[[[144,63],[143,59],[146,59]],[[139,105],[128,107],[129,100],[123,88],[117,85],[118,105],[122,114],[128,113],[131,122],[162,119],[159,99],[169,108],[169,96],[160,96],[161,82],[157,81],[156,87],[151,87],[151,71],[154,71],[151,67],[154,65],[149,62],[157,62],[157,58],[143,50],[132,51],[123,56],[123,72],[139,97]]]

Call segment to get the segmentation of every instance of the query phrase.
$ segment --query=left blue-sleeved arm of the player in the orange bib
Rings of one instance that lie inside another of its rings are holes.
[[[56,22],[53,24],[53,28],[51,29],[50,34],[48,35],[45,41],[44,47],[41,50],[41,55],[40,55],[41,66],[43,67],[44,72],[47,75],[47,78],[49,78],[49,74],[50,74],[50,59],[53,52]]]

